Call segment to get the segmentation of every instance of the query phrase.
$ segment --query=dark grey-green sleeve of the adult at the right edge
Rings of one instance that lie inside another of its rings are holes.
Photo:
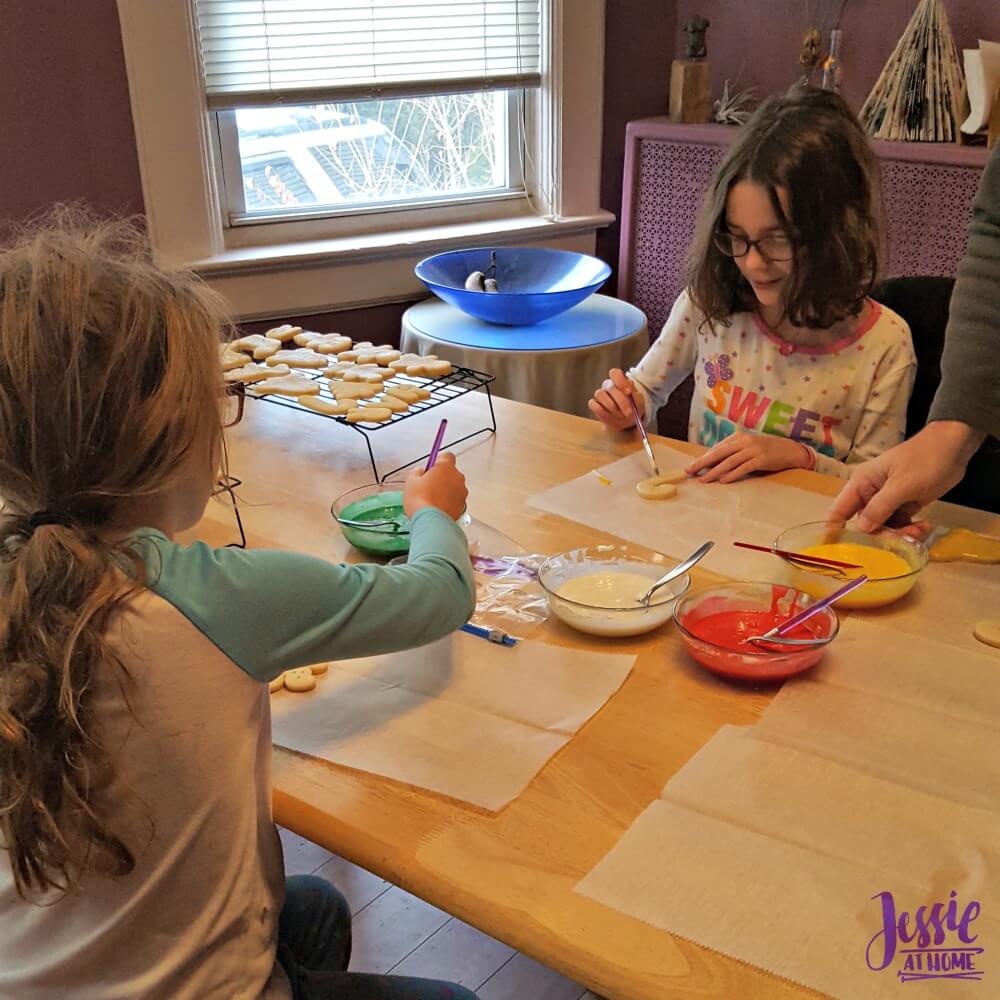
[[[1000,143],[973,205],[969,246],[951,297],[941,385],[931,420],[1000,437]]]

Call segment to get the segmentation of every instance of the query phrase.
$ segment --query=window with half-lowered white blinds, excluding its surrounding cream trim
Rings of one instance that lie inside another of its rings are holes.
[[[225,224],[523,195],[540,2],[196,0]]]

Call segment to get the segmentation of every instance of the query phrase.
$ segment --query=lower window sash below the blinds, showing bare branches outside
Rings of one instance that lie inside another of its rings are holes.
[[[217,112],[231,226],[523,195],[506,92]]]

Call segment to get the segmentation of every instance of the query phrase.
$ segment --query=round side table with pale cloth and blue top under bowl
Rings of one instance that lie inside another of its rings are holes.
[[[403,314],[401,345],[495,375],[498,396],[585,417],[608,370],[635,364],[649,334],[640,310],[606,295],[534,326],[493,326],[433,298]]]

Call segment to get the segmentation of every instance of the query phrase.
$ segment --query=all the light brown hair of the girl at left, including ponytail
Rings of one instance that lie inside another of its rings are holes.
[[[119,526],[219,454],[224,329],[134,225],[61,209],[0,248],[0,849],[22,898],[134,866],[91,711],[99,677],[131,690],[108,630],[145,570]]]

